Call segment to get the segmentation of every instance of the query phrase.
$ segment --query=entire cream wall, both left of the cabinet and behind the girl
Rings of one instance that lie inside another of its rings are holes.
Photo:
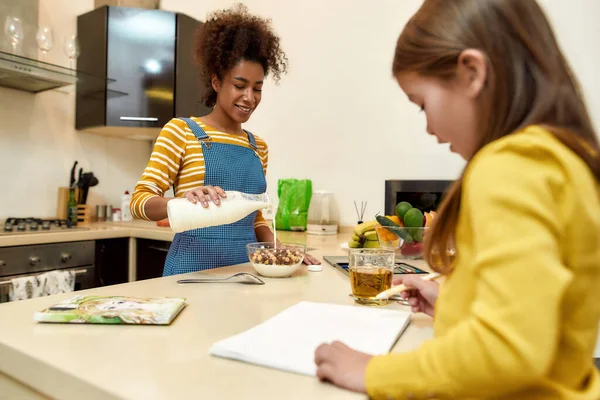
[[[232,0],[162,0],[161,7],[205,19]],[[268,181],[310,178],[340,204],[342,223],[356,221],[353,200],[369,203],[368,216],[383,211],[384,180],[455,178],[458,156],[424,133],[424,116],[391,77],[394,44],[420,0],[247,0],[250,11],[273,19],[290,59],[280,86],[265,87],[263,103],[248,128],[270,146]],[[541,0],[578,75],[600,126],[600,2]],[[92,0],[41,0],[40,23],[55,29],[50,61],[68,65],[62,53],[76,15]],[[145,166],[150,145],[107,139],[73,128],[74,95],[32,95],[0,88],[0,185],[8,191],[0,218],[51,216],[56,187],[68,183],[72,162],[99,176],[90,202],[117,205]],[[16,193],[16,195],[15,195]]]

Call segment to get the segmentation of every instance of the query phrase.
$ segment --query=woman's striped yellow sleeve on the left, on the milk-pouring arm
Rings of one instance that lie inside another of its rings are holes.
[[[134,218],[150,220],[146,216],[146,202],[163,196],[173,185],[187,146],[185,122],[172,119],[160,131],[148,165],[131,197],[131,214]]]

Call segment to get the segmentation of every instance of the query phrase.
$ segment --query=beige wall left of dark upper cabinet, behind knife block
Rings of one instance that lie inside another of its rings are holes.
[[[63,40],[76,32],[76,16],[93,0],[40,0],[40,25],[54,30],[48,61],[68,66]],[[68,186],[73,162],[93,171],[100,184],[88,204],[120,206],[120,196],[141,176],[150,144],[75,131],[75,94],[0,88],[0,219],[56,216],[57,188]],[[79,168],[78,166],[78,168]]]

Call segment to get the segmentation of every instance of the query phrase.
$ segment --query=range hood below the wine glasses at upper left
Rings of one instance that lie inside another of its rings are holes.
[[[113,79],[0,51],[0,86],[39,93],[74,86],[82,81],[89,88],[102,88],[114,82]]]

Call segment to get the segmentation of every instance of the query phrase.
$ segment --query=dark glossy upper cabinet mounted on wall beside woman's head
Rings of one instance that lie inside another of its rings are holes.
[[[153,140],[171,118],[208,114],[193,63],[200,24],[180,13],[126,7],[79,16],[77,69],[105,79],[78,82],[75,127]]]

